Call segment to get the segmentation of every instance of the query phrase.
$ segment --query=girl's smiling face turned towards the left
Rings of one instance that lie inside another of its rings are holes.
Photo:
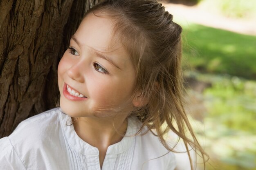
[[[102,109],[132,105],[135,69],[121,44],[110,41],[111,31],[109,18],[89,13],[72,36],[58,65],[64,113],[93,117]]]

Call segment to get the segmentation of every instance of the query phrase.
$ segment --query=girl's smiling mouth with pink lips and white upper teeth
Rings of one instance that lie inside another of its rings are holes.
[[[83,94],[79,93],[78,91],[76,91],[75,89],[73,89],[72,87],[67,85],[66,83],[64,83],[64,86],[63,86],[63,95],[67,99],[75,100],[75,101],[87,100],[88,99],[86,96],[84,96]]]

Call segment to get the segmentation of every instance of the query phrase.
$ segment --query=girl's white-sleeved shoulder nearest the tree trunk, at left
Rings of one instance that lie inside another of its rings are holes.
[[[45,166],[54,167],[51,161],[62,155],[65,165],[65,138],[60,114],[62,113],[59,108],[54,108],[30,117],[22,121],[9,137],[0,139],[0,164],[6,162],[7,164],[2,166],[8,167],[7,169],[9,166],[23,166],[23,169],[56,169]]]

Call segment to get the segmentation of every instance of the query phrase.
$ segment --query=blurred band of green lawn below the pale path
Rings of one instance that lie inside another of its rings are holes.
[[[256,36],[192,23],[183,29],[185,65],[202,73],[256,79]]]

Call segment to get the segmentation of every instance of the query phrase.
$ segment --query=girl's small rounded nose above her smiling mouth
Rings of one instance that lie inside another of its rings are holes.
[[[77,61],[74,63],[68,70],[67,70],[67,75],[78,82],[83,83],[84,82],[84,64],[81,61]]]

